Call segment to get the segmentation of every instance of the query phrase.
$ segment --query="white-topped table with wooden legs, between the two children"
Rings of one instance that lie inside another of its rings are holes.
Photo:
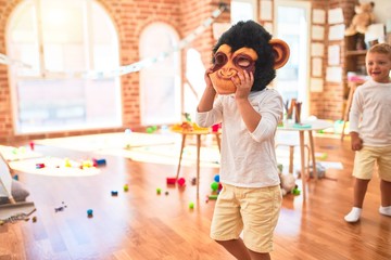
[[[316,172],[316,159],[315,159],[315,145],[314,145],[314,138],[313,131],[319,131],[327,128],[333,127],[330,121],[321,120],[321,119],[314,119],[314,120],[303,120],[301,123],[283,123],[283,126],[279,126],[277,131],[295,131],[299,132],[299,140],[300,140],[300,159],[301,159],[301,179],[302,179],[302,188],[303,188],[303,199],[305,199],[305,190],[306,190],[306,178],[305,178],[305,144],[304,144],[304,133],[307,132],[308,140],[310,140],[310,153],[312,157],[312,165],[313,165],[313,173],[315,177],[315,181],[317,181],[317,172]],[[310,178],[310,174],[308,174]]]

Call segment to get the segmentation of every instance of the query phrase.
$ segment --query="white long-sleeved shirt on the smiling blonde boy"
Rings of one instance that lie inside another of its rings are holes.
[[[353,95],[350,132],[358,132],[368,146],[391,145],[391,83],[369,79]]]

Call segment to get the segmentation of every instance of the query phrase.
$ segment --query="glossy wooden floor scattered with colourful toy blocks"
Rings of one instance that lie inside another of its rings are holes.
[[[369,183],[362,220],[344,222],[351,208],[353,152],[349,139],[316,138],[316,152],[341,161],[325,179],[311,180],[307,198],[288,195],[275,232],[274,260],[390,260],[391,218],[379,214],[379,180]],[[39,145],[48,156],[86,156],[80,152]],[[92,156],[88,154],[88,156]],[[47,177],[18,173],[36,205],[37,222],[0,226],[0,259],[234,259],[209,237],[214,200],[205,202],[218,169],[202,168],[200,199],[195,186],[167,187],[176,166],[141,164],[105,157],[108,165],[93,177]],[[182,167],[190,180],[194,167]],[[301,181],[298,181],[300,185]],[[124,192],[124,184],[129,191]],[[162,194],[156,195],[156,188]],[[117,197],[111,191],[118,191]],[[168,192],[168,195],[165,195]],[[194,209],[189,209],[194,203]],[[66,208],[55,212],[62,205]],[[87,218],[87,210],[93,218]]]

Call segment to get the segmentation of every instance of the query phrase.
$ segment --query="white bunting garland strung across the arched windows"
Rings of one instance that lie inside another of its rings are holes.
[[[86,78],[86,79],[101,79],[101,78],[113,78],[119,77],[126,74],[136,73],[141,70],[144,67],[151,66],[154,63],[164,61],[172,53],[177,52],[185,47],[189,46],[200,34],[202,34],[207,27],[210,27],[214,21],[227,10],[227,4],[220,3],[218,9],[212,12],[211,17],[206,18],[200,26],[198,26],[190,35],[181,39],[177,46],[173,47],[169,51],[161,52],[159,55],[153,57],[143,58],[139,62],[121,66],[116,69],[105,70],[105,72],[79,72],[79,73],[63,73],[63,72],[50,72],[45,70],[43,75],[46,77],[64,77],[64,78]],[[25,64],[21,61],[13,60],[2,53],[0,53],[0,64],[5,64],[9,66],[17,66],[21,68],[33,69],[33,66]]]

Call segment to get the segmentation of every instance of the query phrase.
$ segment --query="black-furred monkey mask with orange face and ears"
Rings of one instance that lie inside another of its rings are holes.
[[[288,58],[289,47],[285,41],[272,39],[272,35],[253,21],[239,22],[224,32],[213,48],[213,72],[209,76],[218,94],[231,94],[236,92],[231,78],[247,70],[254,76],[251,91],[261,91]]]

